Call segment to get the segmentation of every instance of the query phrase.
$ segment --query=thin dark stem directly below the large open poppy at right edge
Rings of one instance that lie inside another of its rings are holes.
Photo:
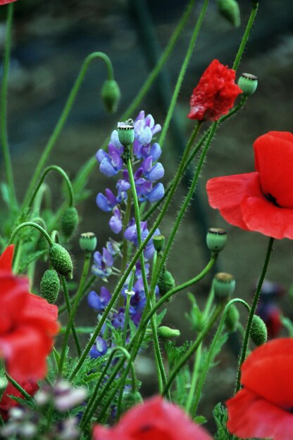
[[[270,255],[272,254],[273,251],[273,243],[274,243],[274,238],[270,237],[270,240],[268,242],[268,250],[266,252],[266,259],[264,261],[263,264],[263,270],[261,271],[261,276],[258,280],[258,285],[256,287],[256,292],[254,294],[254,299],[251,305],[251,309],[250,309],[250,313],[248,316],[248,320],[247,320],[247,327],[245,329],[245,334],[244,334],[244,340],[243,340],[243,344],[242,344],[242,351],[241,354],[239,356],[239,363],[238,363],[238,369],[237,369],[237,381],[236,381],[236,386],[235,386],[235,394],[239,391],[240,389],[240,382],[241,382],[241,365],[244,362],[245,358],[247,357],[247,346],[248,346],[248,342],[249,342],[249,333],[251,330],[251,323],[252,323],[252,319],[254,318],[254,313],[256,311],[256,306],[258,303],[258,299],[259,299],[259,295],[261,295],[261,287],[263,286],[263,281],[266,277],[266,273],[268,271],[268,265],[270,264]]]

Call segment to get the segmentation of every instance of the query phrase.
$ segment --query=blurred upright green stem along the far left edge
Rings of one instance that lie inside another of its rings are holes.
[[[11,197],[11,206],[16,211],[18,202],[15,195],[15,185],[13,179],[13,169],[11,164],[11,155],[8,144],[7,134],[7,95],[8,95],[8,72],[11,56],[11,31],[13,22],[13,3],[8,4],[7,18],[6,18],[6,41],[4,46],[4,61],[3,61],[3,77],[1,86],[1,102],[0,102],[0,123],[1,123],[1,144],[2,153],[4,158],[4,168],[6,173],[6,179],[8,183],[9,193]]]

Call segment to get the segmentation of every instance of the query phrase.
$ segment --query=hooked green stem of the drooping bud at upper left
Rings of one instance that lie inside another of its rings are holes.
[[[51,153],[51,150],[54,147],[54,145],[58,139],[58,136],[61,134],[61,130],[63,129],[63,126],[66,123],[66,120],[68,118],[70,110],[73,107],[75,97],[77,95],[77,92],[80,89],[80,86],[82,84],[82,80],[85,77],[87,69],[88,69],[90,63],[92,62],[92,60],[94,60],[96,58],[100,58],[101,60],[104,61],[104,63],[106,63],[106,67],[108,70],[108,79],[113,79],[112,63],[111,63],[110,58],[108,58],[108,56],[106,56],[105,53],[93,52],[93,53],[90,53],[89,56],[87,56],[87,58],[85,58],[85,61],[83,62],[82,67],[80,69],[80,73],[77,76],[77,79],[75,80],[75,84],[73,85],[73,89],[70,91],[70,94],[68,96],[68,100],[66,101],[66,105],[63,108],[63,112],[61,114],[61,117],[59,118],[59,120],[56,124],[56,127],[49,138],[49,141],[46,143],[46,146],[44,148],[44,152],[42,153],[42,156],[40,157],[39,162],[37,164],[37,167],[35,169],[35,173],[32,176],[32,180],[30,181],[30,185],[27,189],[27,193],[26,193],[25,198],[23,200],[23,209],[27,206],[27,204],[30,200],[30,195],[37,184],[37,179],[39,179],[39,174],[41,174],[42,169],[44,167],[44,164],[46,163],[46,160],[48,159],[49,154]]]

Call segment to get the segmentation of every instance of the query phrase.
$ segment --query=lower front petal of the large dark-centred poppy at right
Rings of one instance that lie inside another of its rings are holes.
[[[241,209],[251,231],[273,238],[293,238],[293,209],[282,209],[259,197],[245,198]]]

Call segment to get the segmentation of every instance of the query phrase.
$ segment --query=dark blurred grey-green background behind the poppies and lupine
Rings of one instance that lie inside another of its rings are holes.
[[[151,113],[156,122],[163,124],[166,109],[185,56],[201,1],[194,12],[168,60],[163,75],[139,106]],[[85,81],[77,95],[68,122],[58,138],[48,164],[63,167],[73,178],[80,165],[95,155],[106,136],[110,136],[127,105],[135,97],[144,79],[154,67],[180,19],[187,1],[176,0],[19,0],[15,2],[13,27],[13,52],[9,82],[8,135],[12,147],[15,179],[21,197],[38,157],[58,120],[70,93],[80,66],[92,51],[104,51],[112,60],[114,75],[122,92],[117,115],[109,116],[101,103],[100,89],[106,79],[106,68],[99,60],[89,67]],[[235,29],[219,15],[216,1],[211,1],[197,41],[191,63],[180,91],[176,113],[168,138],[163,146],[164,183],[173,176],[194,122],[187,118],[189,97],[201,73],[214,58],[232,67],[239,41],[244,32],[251,3],[239,0],[242,23]],[[3,53],[5,41],[6,7],[0,8],[0,46]],[[258,89],[249,98],[244,110],[220,127],[208,161],[201,174],[198,197],[185,216],[185,223],[175,240],[168,259],[168,270],[177,284],[195,276],[209,258],[205,235],[208,227],[223,227],[228,233],[225,250],[218,259],[218,271],[232,273],[237,280],[236,295],[250,299],[259,276],[268,245],[268,238],[258,233],[248,233],[226,224],[218,212],[208,206],[206,181],[214,176],[239,174],[254,170],[252,144],[270,130],[292,131],[292,67],[293,67],[293,3],[289,0],[266,0],[260,4],[254,30],[239,67],[239,74],[249,72],[258,77]],[[1,180],[3,162],[0,159]],[[63,201],[60,182],[48,179],[53,188],[56,206]],[[180,198],[186,193],[188,178],[182,182],[176,203],[169,209],[161,226],[168,236]],[[96,193],[104,191],[108,179],[98,166],[89,179],[91,195],[78,209],[82,216],[79,232],[94,231],[98,236],[98,250],[104,246],[111,231],[108,214],[96,207]],[[113,236],[113,235],[112,235]],[[77,235],[78,237],[78,235]],[[114,237],[115,238],[115,237]],[[78,241],[77,239],[75,240]],[[292,285],[292,250],[289,240],[276,240],[268,279],[283,286],[286,295],[276,299],[276,304],[293,316],[289,290]],[[77,255],[78,247],[73,250]],[[206,278],[191,288],[199,304],[204,304],[211,278]],[[102,283],[96,284],[96,290]],[[182,292],[169,306],[164,323],[180,328],[182,340],[192,339],[192,331],[185,318],[190,302]],[[80,324],[87,323],[95,313],[85,302]],[[245,322],[245,316],[242,318]],[[286,332],[284,332],[286,334]],[[210,418],[211,408],[230,396],[235,380],[237,338],[230,342],[220,356],[220,364],[212,370],[206,383],[206,398],[200,412]],[[147,375],[151,394],[156,386],[152,379],[151,361],[142,357],[141,375]],[[147,365],[147,368],[145,366]]]

